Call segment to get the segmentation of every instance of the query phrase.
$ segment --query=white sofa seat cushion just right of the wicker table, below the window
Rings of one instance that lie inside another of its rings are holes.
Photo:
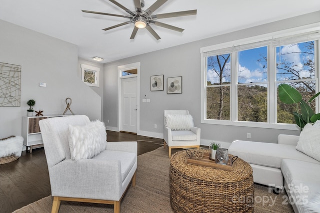
[[[228,152],[250,164],[274,168],[280,168],[282,159],[296,159],[320,164],[315,159],[297,151],[295,146],[286,144],[234,141]]]

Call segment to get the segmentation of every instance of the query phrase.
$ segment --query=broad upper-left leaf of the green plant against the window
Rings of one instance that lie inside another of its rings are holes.
[[[285,104],[297,104],[302,100],[302,95],[288,84],[278,86],[278,96],[280,101]]]

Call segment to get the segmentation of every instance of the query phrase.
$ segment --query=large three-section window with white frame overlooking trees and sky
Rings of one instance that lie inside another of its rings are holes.
[[[317,34],[201,48],[201,122],[294,129],[283,124],[295,123],[295,105],[278,100],[277,86],[291,85],[305,101],[316,93]]]

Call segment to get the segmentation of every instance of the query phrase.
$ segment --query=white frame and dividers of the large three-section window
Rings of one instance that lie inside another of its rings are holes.
[[[214,120],[214,119],[206,119],[206,53],[210,51],[219,52],[219,50],[225,48],[231,48],[234,46],[245,45],[248,46],[247,49],[250,49],[250,45],[252,44],[251,48],[255,48],[256,43],[264,43],[274,42],[274,40],[278,41],[281,37],[284,36],[294,36],[301,33],[311,33],[314,30],[320,30],[320,27],[310,27],[310,28],[303,28],[303,29],[290,29],[284,30],[281,32],[276,32],[274,34],[267,34],[261,35],[256,37],[250,37],[246,39],[216,44],[212,46],[202,47],[200,48],[201,53],[201,123],[204,124],[218,124],[218,125],[231,125],[231,126],[243,126],[243,127],[260,127],[260,128],[270,128],[270,129],[283,129],[283,130],[300,130],[300,128],[295,124],[280,124],[276,123],[276,95],[277,91],[275,88],[276,85],[276,69],[275,69],[275,51],[270,51],[270,48],[273,48],[274,45],[270,45],[267,47],[267,54],[268,54],[268,61],[267,61],[267,69],[268,69],[268,87],[267,87],[267,103],[268,103],[268,118],[267,122],[252,122],[252,121],[237,121],[237,69],[231,70],[231,88],[230,88],[230,120]],[[320,34],[320,33],[319,33]],[[314,35],[313,35],[314,36]],[[315,36],[314,40],[319,40],[320,36]],[[319,43],[316,42],[314,46],[314,61],[315,61],[315,76],[314,80],[316,81],[316,91],[319,91],[319,67],[318,63],[320,61],[319,55]],[[221,52],[218,54],[225,54],[226,52]],[[231,66],[236,67],[236,54],[231,53]],[[272,73],[270,73],[270,69],[272,67]],[[316,99],[316,112],[319,112],[319,105],[320,105],[320,98]]]

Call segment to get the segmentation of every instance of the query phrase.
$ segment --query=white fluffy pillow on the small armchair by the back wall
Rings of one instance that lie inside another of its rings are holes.
[[[193,127],[191,115],[166,115],[165,124],[171,130],[190,130]]]

